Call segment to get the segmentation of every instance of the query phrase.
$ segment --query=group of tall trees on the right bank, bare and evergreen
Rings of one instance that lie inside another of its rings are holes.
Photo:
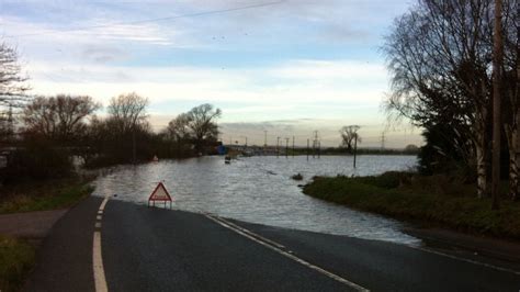
[[[383,46],[392,75],[392,93],[385,105],[391,119],[407,117],[425,128],[423,172],[465,169],[475,173],[477,195],[483,198],[490,191],[495,88],[495,94],[502,97],[501,106],[495,110],[501,112],[498,136],[505,142],[497,150],[506,158],[501,166],[508,173],[509,196],[517,199],[518,2],[498,3],[501,11],[487,0],[419,0],[396,19]],[[495,27],[501,29],[494,32]],[[497,35],[502,41],[501,57],[494,55]],[[494,56],[499,58],[495,68]]]

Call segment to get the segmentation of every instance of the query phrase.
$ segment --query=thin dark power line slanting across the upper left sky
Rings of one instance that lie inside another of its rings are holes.
[[[157,18],[157,19],[125,21],[125,22],[116,22],[116,23],[111,23],[111,24],[88,25],[88,26],[80,26],[80,27],[67,29],[67,30],[61,30],[61,31],[49,31],[49,32],[27,33],[27,34],[19,34],[19,35],[7,35],[5,37],[27,37],[27,36],[46,35],[46,34],[55,34],[55,33],[67,33],[67,32],[76,32],[76,31],[88,31],[88,30],[95,30],[95,29],[105,29],[105,27],[117,26],[117,25],[171,21],[171,20],[177,20],[177,19],[196,18],[196,16],[219,14],[219,13],[226,13],[226,12],[233,12],[233,11],[239,11],[239,10],[247,10],[247,9],[276,5],[276,4],[280,4],[280,3],[285,2],[285,1],[286,0],[281,0],[281,1],[275,1],[275,2],[267,2],[267,3],[251,4],[251,5],[244,5],[244,7],[235,7],[235,8],[221,9],[221,10],[211,10],[211,11],[203,11],[203,12],[196,12],[196,13],[188,13],[188,14],[181,14],[181,15]]]

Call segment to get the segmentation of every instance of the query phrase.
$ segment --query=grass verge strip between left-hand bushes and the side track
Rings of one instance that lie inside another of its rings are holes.
[[[61,179],[2,187],[0,214],[69,207],[88,196],[88,180]]]

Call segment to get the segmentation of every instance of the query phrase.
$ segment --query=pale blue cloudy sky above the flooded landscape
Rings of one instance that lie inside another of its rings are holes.
[[[360,125],[362,147],[421,145],[388,124],[384,36],[410,1],[0,0],[0,36],[15,46],[34,94],[149,99],[152,127],[202,103],[223,111],[225,143],[263,145],[318,131],[338,146]],[[103,112],[100,113],[103,115]]]

